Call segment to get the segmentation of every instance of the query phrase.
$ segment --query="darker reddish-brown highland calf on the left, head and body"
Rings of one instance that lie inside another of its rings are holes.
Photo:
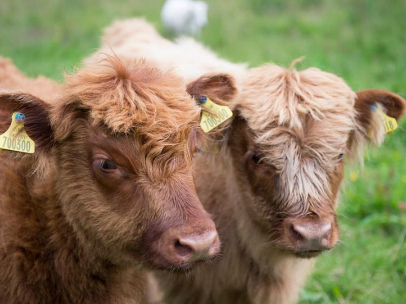
[[[109,57],[58,86],[0,61],[0,88],[59,91],[0,90],[0,134],[20,111],[36,143],[0,151],[0,303],[144,303],[146,270],[217,255],[192,178],[199,108],[179,77]]]

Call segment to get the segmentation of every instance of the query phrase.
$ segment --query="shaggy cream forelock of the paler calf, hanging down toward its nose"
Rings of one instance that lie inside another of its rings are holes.
[[[355,98],[341,78],[317,68],[250,70],[237,107],[263,161],[279,173],[281,202],[319,204],[329,197],[328,173],[359,129]],[[297,205],[298,212],[308,207]]]

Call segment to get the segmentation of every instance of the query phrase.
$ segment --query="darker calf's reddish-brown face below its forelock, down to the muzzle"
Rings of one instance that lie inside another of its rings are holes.
[[[85,122],[76,125],[58,148],[57,192],[83,241],[97,236],[96,246],[107,254],[119,248],[123,262],[142,260],[161,269],[186,270],[214,258],[218,236],[191,175],[187,144],[192,146],[193,133],[183,153],[167,148],[151,158],[143,136],[112,136]]]

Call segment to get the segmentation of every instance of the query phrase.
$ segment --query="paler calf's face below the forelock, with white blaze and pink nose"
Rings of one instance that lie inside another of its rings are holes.
[[[317,125],[321,124],[314,125],[318,129]],[[269,147],[256,142],[245,120],[235,120],[230,137],[234,168],[240,187],[249,185],[241,188],[247,211],[270,234],[273,245],[311,257],[338,240],[335,207],[344,173],[345,140],[335,147],[326,166],[314,155],[317,140],[323,141],[317,129],[317,135],[312,130],[278,129],[274,127],[272,135],[277,143]]]

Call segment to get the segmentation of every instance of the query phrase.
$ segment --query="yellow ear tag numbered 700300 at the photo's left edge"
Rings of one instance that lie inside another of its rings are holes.
[[[22,153],[34,153],[35,142],[29,138],[24,130],[24,114],[14,112],[11,119],[9,129],[0,135],[0,150],[6,149]]]

